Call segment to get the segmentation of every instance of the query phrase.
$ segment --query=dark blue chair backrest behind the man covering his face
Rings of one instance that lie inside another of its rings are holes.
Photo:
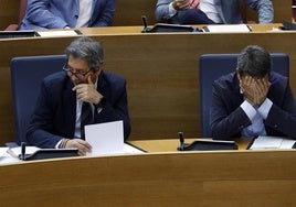
[[[271,56],[273,62],[273,70],[288,77],[288,55],[284,53],[273,53]],[[201,135],[203,138],[210,138],[212,84],[222,75],[235,70],[237,64],[237,54],[204,54],[200,56],[199,63]]]

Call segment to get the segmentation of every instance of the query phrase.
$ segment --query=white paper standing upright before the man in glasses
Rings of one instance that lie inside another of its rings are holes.
[[[92,145],[87,155],[144,153],[133,145],[124,143],[124,122],[113,121],[85,126],[85,140]]]

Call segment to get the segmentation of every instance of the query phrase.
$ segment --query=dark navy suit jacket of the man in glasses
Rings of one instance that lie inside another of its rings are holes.
[[[74,138],[76,119],[76,92],[64,72],[44,78],[27,131],[27,141],[39,148],[54,148],[63,138]],[[126,80],[103,70],[98,76],[97,90],[106,98],[95,122],[124,121],[125,140],[130,132],[127,107]]]

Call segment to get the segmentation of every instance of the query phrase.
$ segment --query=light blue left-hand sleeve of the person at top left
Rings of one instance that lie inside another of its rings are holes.
[[[61,1],[63,4],[64,2]],[[40,28],[61,29],[67,26],[67,23],[54,15],[49,10],[50,0],[29,0],[27,9],[27,19]]]

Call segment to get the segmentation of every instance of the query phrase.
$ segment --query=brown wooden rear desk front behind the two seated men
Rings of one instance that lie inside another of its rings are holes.
[[[279,24],[252,25],[251,33],[142,34],[142,26],[82,29],[105,48],[105,69],[127,79],[130,140],[188,138],[200,134],[199,57],[239,53],[249,44],[290,57],[290,85],[296,92],[296,32],[269,32]],[[0,40],[0,144],[15,138],[10,83],[14,56],[63,54],[75,37]]]

